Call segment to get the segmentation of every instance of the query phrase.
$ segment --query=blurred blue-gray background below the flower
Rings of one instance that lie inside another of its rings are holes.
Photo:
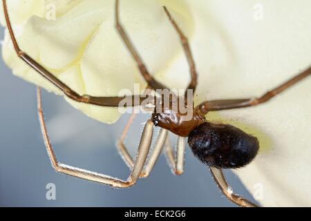
[[[2,39],[3,28],[0,35]],[[235,206],[223,197],[207,167],[189,148],[184,175],[172,175],[162,155],[150,177],[130,189],[55,173],[41,138],[35,86],[13,76],[2,58],[0,68],[0,206]],[[129,115],[104,125],[48,93],[44,93],[44,109],[59,162],[127,178],[129,169],[115,141]],[[137,119],[126,144],[137,147],[147,117]],[[254,200],[236,175],[226,174],[234,191]],[[56,200],[46,199],[49,183],[56,186]]]

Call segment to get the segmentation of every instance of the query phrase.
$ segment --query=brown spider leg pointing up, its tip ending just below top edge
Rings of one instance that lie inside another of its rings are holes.
[[[184,35],[184,33],[182,32],[182,30],[180,30],[180,28],[178,27],[178,24],[176,23],[176,21],[173,19],[173,17],[171,17],[171,14],[169,13],[169,10],[167,9],[167,7],[163,6],[165,13],[167,14],[167,17],[169,17],[169,21],[171,21],[173,27],[176,29],[176,31],[178,32],[178,35],[180,37],[180,40],[182,42],[182,47],[185,50],[185,55],[187,57],[187,61],[188,64],[190,66],[190,73],[191,73],[191,81],[189,83],[189,86],[187,88],[187,90],[196,90],[196,86],[198,84],[198,74],[196,72],[196,64],[194,62],[194,57],[192,55],[191,52],[191,48],[189,46],[189,42],[187,37]],[[187,92],[186,92],[187,93]]]

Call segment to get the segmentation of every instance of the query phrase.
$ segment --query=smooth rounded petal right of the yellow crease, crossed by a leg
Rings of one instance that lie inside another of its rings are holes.
[[[114,2],[110,1],[102,8],[111,9],[113,4]],[[135,8],[149,8],[152,9],[152,13],[146,15],[145,10],[138,11]],[[114,11],[106,10],[104,15],[105,22],[89,42],[81,61],[86,93],[115,96],[120,95],[119,91],[123,88],[128,88],[134,93],[135,83],[140,83],[140,88],[144,89],[147,84],[142,81],[137,64],[114,28]],[[178,41],[171,43],[176,33],[156,1],[121,1],[120,15],[122,25],[151,74],[164,70],[167,62],[182,50]],[[186,23],[185,19],[182,21],[181,15],[178,19],[181,23]],[[88,108],[91,108],[91,113],[96,115],[96,119],[104,122],[107,122],[106,118],[109,115],[115,116],[111,118],[111,122],[120,115],[117,109],[107,110],[97,106]],[[103,109],[106,111],[102,111]]]

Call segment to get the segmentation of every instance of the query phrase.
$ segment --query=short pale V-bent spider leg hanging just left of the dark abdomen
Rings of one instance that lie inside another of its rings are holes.
[[[167,136],[167,141],[165,144],[165,155],[167,157],[167,162],[169,162],[169,166],[171,167],[172,173],[176,175],[182,175],[184,173],[184,165],[185,165],[185,137],[178,137],[177,141],[177,151],[176,157],[169,142],[169,136]]]

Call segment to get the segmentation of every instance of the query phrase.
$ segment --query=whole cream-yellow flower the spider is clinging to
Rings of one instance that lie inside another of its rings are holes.
[[[113,0],[41,1],[36,7],[33,2],[10,1],[17,39],[59,79],[78,93],[101,96],[144,84],[113,26]],[[45,18],[46,2],[57,6],[55,21]],[[308,0],[121,0],[124,27],[151,73],[167,86],[184,88],[189,67],[163,4],[191,40],[197,102],[259,96],[311,65]],[[15,75],[59,93],[19,61],[8,34],[3,57]],[[311,206],[310,87],[309,77],[267,104],[207,115],[258,137],[259,155],[235,173],[264,206]],[[120,116],[113,109],[69,102],[102,122]]]

